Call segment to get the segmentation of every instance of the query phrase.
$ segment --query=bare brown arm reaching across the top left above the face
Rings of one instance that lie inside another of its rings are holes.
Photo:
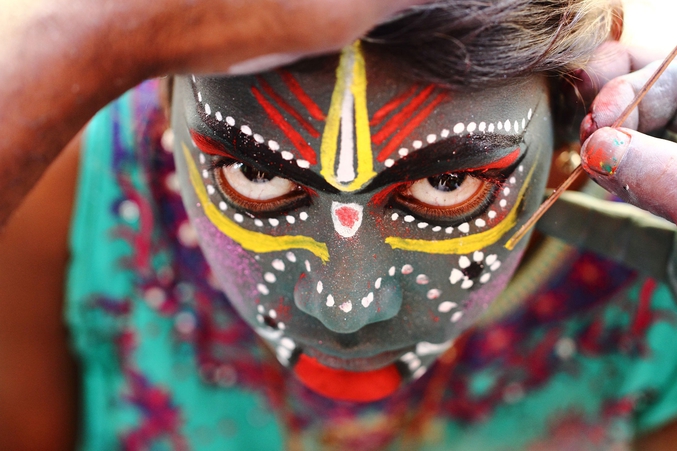
[[[0,0],[0,226],[86,121],[143,79],[330,51],[415,3]]]

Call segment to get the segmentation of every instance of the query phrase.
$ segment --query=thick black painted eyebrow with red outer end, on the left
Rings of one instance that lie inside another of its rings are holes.
[[[294,161],[285,160],[280,153],[240,130],[228,130],[226,137],[211,137],[191,126],[189,131],[198,150],[203,153],[232,158],[259,171],[302,183],[318,191],[331,194],[339,192],[319,174],[300,168]]]

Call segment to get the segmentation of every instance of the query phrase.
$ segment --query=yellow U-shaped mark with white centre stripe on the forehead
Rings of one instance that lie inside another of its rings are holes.
[[[341,191],[357,191],[376,176],[367,109],[367,71],[359,41],[341,52],[322,133],[320,163],[320,174]]]

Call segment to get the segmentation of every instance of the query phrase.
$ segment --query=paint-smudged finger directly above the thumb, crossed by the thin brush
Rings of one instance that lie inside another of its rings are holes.
[[[615,78],[607,83],[595,98],[590,113],[581,124],[581,141],[585,141],[595,130],[612,125],[632,103],[660,64],[660,61],[656,61],[644,69]],[[673,63],[622,126],[642,132],[674,127],[676,112],[677,63]]]

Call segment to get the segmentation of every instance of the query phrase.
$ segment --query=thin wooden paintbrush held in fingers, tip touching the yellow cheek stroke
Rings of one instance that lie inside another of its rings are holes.
[[[630,103],[630,105],[625,108],[623,113],[616,119],[616,121],[611,125],[612,128],[618,128],[625,122],[625,120],[628,118],[630,113],[639,105],[639,102],[642,101],[644,96],[649,92],[651,87],[658,81],[661,75],[663,75],[663,72],[668,68],[670,63],[677,57],[677,47],[674,48],[672,52],[665,58],[663,63],[660,65],[658,70],[651,76],[651,78],[642,86],[642,89],[637,93],[635,96],[634,100]],[[531,230],[531,228],[536,224],[536,222],[545,214],[546,211],[552,206],[552,204],[555,203],[557,199],[559,199],[559,196],[566,191],[566,189],[573,183],[573,181],[578,177],[581,173],[583,172],[583,166],[578,165],[576,169],[569,175],[569,177],[562,182],[561,185],[559,185],[555,191],[552,192],[552,194],[541,204],[540,207],[538,207],[538,210],[534,212],[533,215],[525,222],[522,227],[510,238],[506,243],[505,247],[509,250],[514,249],[514,247],[519,243],[519,241],[526,235],[526,233]]]

